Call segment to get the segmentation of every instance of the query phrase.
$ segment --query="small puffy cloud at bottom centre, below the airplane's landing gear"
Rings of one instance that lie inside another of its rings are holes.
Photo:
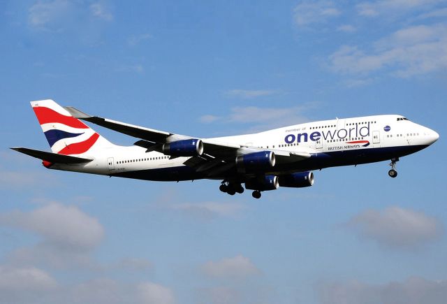
[[[242,278],[261,274],[261,270],[251,263],[250,259],[241,254],[220,261],[208,261],[202,266],[202,271],[210,277]]]

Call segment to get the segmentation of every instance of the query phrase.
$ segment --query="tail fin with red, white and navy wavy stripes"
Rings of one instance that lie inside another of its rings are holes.
[[[54,153],[78,155],[113,145],[51,99],[31,101],[31,106]]]

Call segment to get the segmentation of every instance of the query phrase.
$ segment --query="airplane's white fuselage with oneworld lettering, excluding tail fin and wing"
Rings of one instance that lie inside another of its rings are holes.
[[[208,138],[207,141],[272,151],[307,152],[317,159],[317,161],[312,160],[304,164],[300,162],[297,166],[290,164],[287,168],[277,169],[281,172],[293,172],[347,164],[365,164],[390,159],[390,157],[402,157],[431,145],[438,137],[435,131],[410,122],[401,115],[376,115],[307,122],[261,133]],[[88,164],[54,164],[51,168],[145,180],[200,178],[189,173],[182,175],[184,162],[189,157],[170,159],[168,155],[146,151],[146,148],[139,146],[110,145],[110,147],[101,147],[101,151],[91,149],[84,154],[83,157],[94,159]],[[344,156],[342,160],[338,157],[339,155]],[[322,159],[322,156],[337,157],[323,158],[323,161],[318,161]],[[168,172],[167,175],[163,175],[163,178],[157,177],[157,174],[163,170]],[[135,176],[131,174],[143,171],[148,174]],[[152,171],[153,173],[149,174]],[[170,173],[172,173],[171,178],[169,178]]]

